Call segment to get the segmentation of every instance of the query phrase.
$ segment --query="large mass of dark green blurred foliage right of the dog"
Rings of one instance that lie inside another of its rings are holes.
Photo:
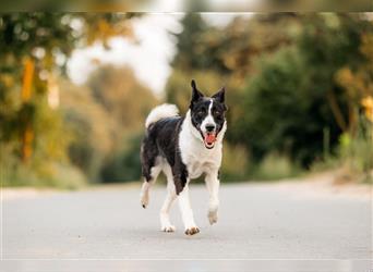
[[[335,156],[341,134],[356,140],[360,99],[373,89],[347,90],[337,76],[363,65],[360,76],[372,84],[361,46],[373,25],[364,14],[255,14],[217,28],[194,13],[182,23],[166,97],[186,111],[190,78],[206,95],[227,86],[229,148],[244,149],[248,159],[221,173],[292,176],[322,159],[325,127]]]

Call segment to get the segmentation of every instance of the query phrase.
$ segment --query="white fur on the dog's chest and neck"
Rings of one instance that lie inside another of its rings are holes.
[[[200,133],[191,123],[190,112],[186,113],[179,135],[179,148],[190,178],[196,178],[203,173],[220,168],[225,131],[226,124],[219,133],[214,148],[207,149],[201,139]]]

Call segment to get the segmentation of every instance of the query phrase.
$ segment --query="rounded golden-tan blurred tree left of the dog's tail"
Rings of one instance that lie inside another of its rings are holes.
[[[140,138],[144,120],[157,103],[129,67],[106,65],[84,87],[61,82],[62,110],[73,132],[69,157],[89,181],[140,177]],[[89,137],[87,137],[89,135]],[[133,140],[135,138],[136,140]],[[131,161],[125,165],[123,161]],[[133,168],[131,171],[129,169]]]

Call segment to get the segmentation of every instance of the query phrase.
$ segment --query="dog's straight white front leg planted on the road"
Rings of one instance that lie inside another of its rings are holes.
[[[189,187],[188,184],[183,190],[179,194],[179,207],[182,217],[182,221],[185,226],[185,234],[193,235],[200,232],[200,228],[194,222],[193,211],[189,199]]]

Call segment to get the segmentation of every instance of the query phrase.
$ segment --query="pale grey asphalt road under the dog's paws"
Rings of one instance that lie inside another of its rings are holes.
[[[176,233],[159,231],[164,187],[152,189],[146,210],[140,206],[139,189],[140,184],[3,200],[2,259],[8,262],[2,264],[11,271],[20,268],[17,261],[33,260],[186,263],[372,258],[370,198],[314,196],[264,184],[222,185],[219,221],[210,226],[207,191],[192,184],[192,207],[201,233],[186,236],[178,205],[171,212]],[[352,271],[350,262],[346,265],[340,271]],[[224,268],[218,265],[216,271],[230,270]]]

